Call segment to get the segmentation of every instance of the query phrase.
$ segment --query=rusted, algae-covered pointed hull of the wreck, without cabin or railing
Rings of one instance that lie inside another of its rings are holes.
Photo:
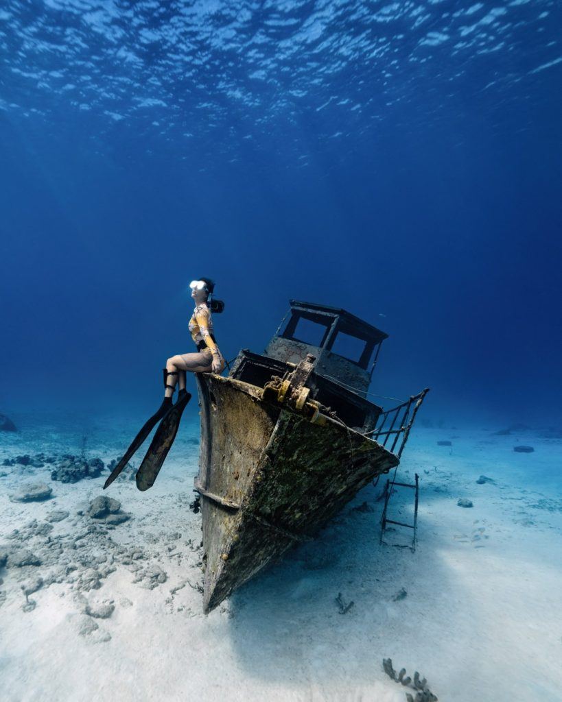
[[[204,611],[211,611],[398,465],[376,441],[329,416],[263,399],[235,378],[197,374]]]

